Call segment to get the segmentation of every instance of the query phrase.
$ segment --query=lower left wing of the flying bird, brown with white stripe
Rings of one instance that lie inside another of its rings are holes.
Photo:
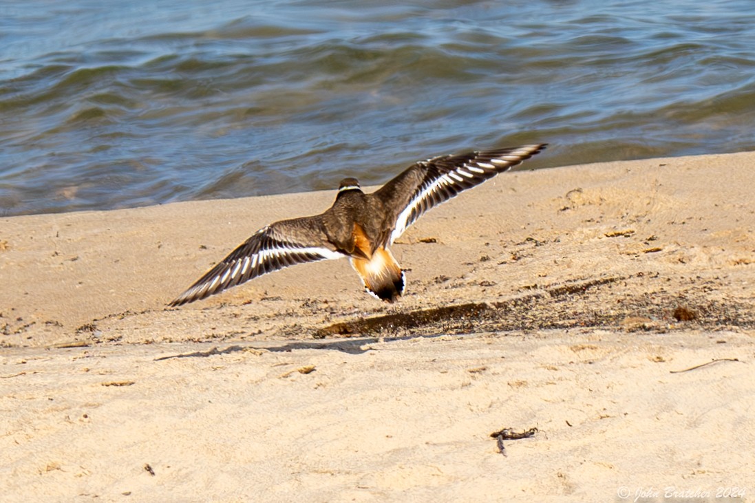
[[[319,215],[279,221],[257,230],[170,305],[199,301],[294,264],[347,256],[328,242]]]

